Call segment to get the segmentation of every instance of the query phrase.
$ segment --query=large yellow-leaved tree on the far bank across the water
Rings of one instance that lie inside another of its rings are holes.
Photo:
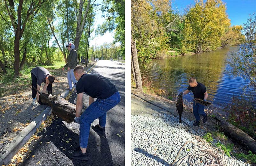
[[[221,0],[200,0],[186,15],[182,51],[215,50],[221,46],[220,38],[229,25],[226,4]]]

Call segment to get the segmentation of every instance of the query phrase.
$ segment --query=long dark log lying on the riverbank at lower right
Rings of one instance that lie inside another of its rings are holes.
[[[224,129],[224,132],[236,139],[238,142],[244,144],[253,153],[256,153],[256,140],[252,139],[248,134],[240,130],[234,125],[231,125],[226,120],[219,116],[215,116],[216,120],[220,122],[220,126]]]

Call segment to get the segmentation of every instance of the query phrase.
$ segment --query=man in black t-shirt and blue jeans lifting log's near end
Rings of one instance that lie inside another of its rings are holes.
[[[69,150],[71,158],[88,160],[87,144],[89,139],[90,127],[95,119],[99,119],[99,124],[92,125],[92,129],[98,134],[105,134],[107,112],[120,102],[120,95],[115,85],[110,83],[107,78],[99,74],[86,74],[83,66],[77,65],[74,69],[76,83],[76,118],[74,121],[80,123],[79,148]],[[81,115],[83,107],[84,92],[90,96],[89,107]],[[94,101],[94,98],[97,98]]]

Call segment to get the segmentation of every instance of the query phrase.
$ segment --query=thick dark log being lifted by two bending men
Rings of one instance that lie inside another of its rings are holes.
[[[33,87],[36,89],[35,87]],[[74,121],[76,117],[76,105],[69,103],[67,100],[60,96],[50,95],[40,93],[37,89],[36,91],[40,94],[39,100],[44,105],[49,105],[52,107],[52,112],[58,115],[67,123]]]

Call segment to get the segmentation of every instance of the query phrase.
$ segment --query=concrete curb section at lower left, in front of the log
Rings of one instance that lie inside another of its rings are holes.
[[[10,143],[6,144],[3,155],[0,154],[0,165],[7,165],[12,157],[24,146],[30,137],[36,132],[42,121],[52,113],[52,108],[48,106],[40,113],[27,127],[25,127]]]

